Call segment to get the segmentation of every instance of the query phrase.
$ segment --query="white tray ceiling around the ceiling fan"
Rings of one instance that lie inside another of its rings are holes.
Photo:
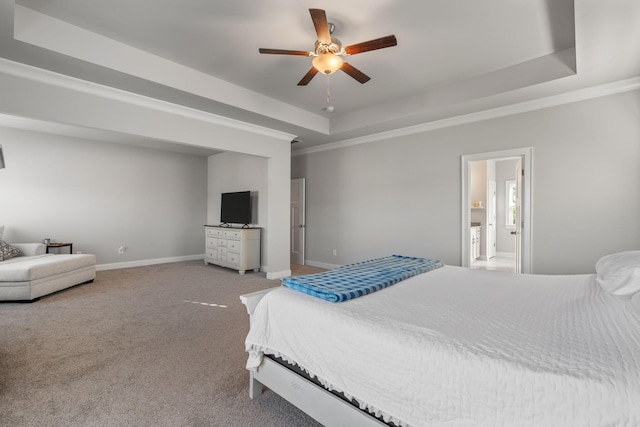
[[[298,135],[294,148],[640,76],[637,0],[16,3],[0,2],[0,56]],[[310,58],[258,48],[313,50],[309,8],[344,45],[398,45],[348,58],[366,84],[338,72],[299,87]]]

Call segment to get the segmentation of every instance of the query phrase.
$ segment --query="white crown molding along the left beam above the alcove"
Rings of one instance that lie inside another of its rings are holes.
[[[213,113],[207,113],[205,111],[185,107],[183,105],[173,104],[171,102],[162,101],[133,92],[127,92],[122,89],[104,86],[98,83],[55,73],[53,71],[23,64],[20,62],[11,61],[5,58],[0,58],[0,73],[56,87],[61,87],[64,89],[82,92],[101,98],[124,102],[126,104],[135,105],[138,107],[161,111],[163,113],[175,114],[183,117],[188,117],[190,119],[224,126],[227,128],[233,128],[254,134],[264,135],[270,138],[284,140],[287,142],[290,142],[291,139],[295,136],[286,132],[269,129],[240,120],[230,119],[228,117],[219,116]]]

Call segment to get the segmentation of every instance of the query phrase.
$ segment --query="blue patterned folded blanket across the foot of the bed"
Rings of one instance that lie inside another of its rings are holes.
[[[282,284],[326,301],[342,302],[370,294],[442,265],[435,259],[391,255],[345,265],[324,273],[286,277],[282,279]]]

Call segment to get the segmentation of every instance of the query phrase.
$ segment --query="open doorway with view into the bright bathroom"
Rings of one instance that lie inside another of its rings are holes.
[[[528,147],[462,156],[461,265],[463,267],[518,273],[531,272],[532,151],[532,148]],[[514,163],[509,163],[517,160],[520,161],[518,172],[512,166]],[[504,165],[509,163],[513,171],[509,181],[516,181],[516,177],[519,178],[517,182],[521,191],[517,207],[518,221],[511,220],[510,227],[507,226],[510,217],[507,213],[508,205],[505,205],[507,203],[505,179],[501,176],[496,182],[496,164],[498,163]],[[474,170],[482,164],[489,166],[485,166],[480,182],[472,182]],[[481,250],[472,255],[476,241],[480,242]],[[510,243],[504,243],[505,241]],[[501,242],[503,248],[506,247],[504,245],[510,244],[509,250],[501,251]],[[511,248],[513,250],[510,250]]]

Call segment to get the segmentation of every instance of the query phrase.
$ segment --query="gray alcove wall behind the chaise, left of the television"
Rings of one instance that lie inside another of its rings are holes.
[[[0,141],[6,240],[71,241],[101,265],[204,253],[206,157],[1,127]]]

